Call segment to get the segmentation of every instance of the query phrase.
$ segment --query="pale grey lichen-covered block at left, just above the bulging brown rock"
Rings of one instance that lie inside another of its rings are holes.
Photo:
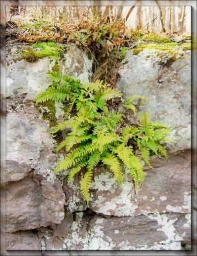
[[[52,175],[57,159],[52,153],[55,141],[49,134],[49,123],[34,110],[35,115],[19,111],[6,116],[6,182],[23,179],[31,170]]]

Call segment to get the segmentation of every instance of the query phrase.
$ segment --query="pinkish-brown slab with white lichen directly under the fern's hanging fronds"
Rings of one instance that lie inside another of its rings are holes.
[[[153,162],[154,169],[145,171],[145,180],[137,193],[129,174],[118,186],[113,173],[100,167],[91,183],[91,199],[86,205],[79,191],[80,177],[70,185],[64,182],[68,211],[92,211],[105,216],[136,216],[152,212],[191,212],[191,152]],[[67,192],[68,191],[68,192]],[[68,194],[69,193],[69,194]]]

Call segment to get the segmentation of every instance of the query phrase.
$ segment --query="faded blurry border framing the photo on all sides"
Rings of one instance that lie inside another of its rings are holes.
[[[36,2],[36,4],[35,4]],[[42,4],[41,4],[42,2]],[[48,3],[47,3],[48,2]],[[49,5],[50,1],[45,1],[45,5]],[[146,2],[146,3],[145,3]],[[163,6],[169,5],[187,5],[191,6],[191,25],[192,36],[196,38],[196,1],[176,1],[176,4],[170,4],[169,1],[162,1]],[[52,1],[52,6],[132,6],[136,1]],[[194,232],[196,230],[196,193],[194,193],[194,187],[196,188],[196,50],[192,51],[192,250],[191,251],[6,251],[6,42],[5,42],[5,10],[6,6],[18,6],[29,5],[38,6],[43,5],[43,1],[1,1],[1,256],[4,255],[196,255],[196,239]],[[138,1],[138,6],[155,6],[155,1]]]

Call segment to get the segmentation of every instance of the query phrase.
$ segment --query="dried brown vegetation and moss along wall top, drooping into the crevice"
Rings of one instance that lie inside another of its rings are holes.
[[[111,86],[116,85],[118,79],[118,67],[125,57],[125,52],[132,49],[134,54],[143,51],[145,47],[153,49],[170,50],[178,45],[173,43],[167,34],[157,35],[150,31],[130,29],[126,26],[125,19],[107,17],[96,10],[83,13],[81,18],[75,15],[70,19],[69,15],[49,17],[50,15],[30,15],[28,19],[22,17],[10,19],[7,22],[7,36],[29,44],[39,46],[42,42],[54,41],[59,44],[75,44],[83,49],[89,58],[93,58],[93,81],[102,79]],[[67,13],[66,13],[67,14]],[[51,19],[50,19],[51,18]],[[175,45],[173,45],[175,44]],[[41,45],[43,46],[43,45]],[[48,45],[45,45],[48,47]],[[182,49],[188,49],[184,45]],[[190,45],[191,47],[191,45]],[[36,61],[45,56],[59,56],[58,52],[49,47],[41,52],[29,49],[24,52],[24,58],[28,61]]]

